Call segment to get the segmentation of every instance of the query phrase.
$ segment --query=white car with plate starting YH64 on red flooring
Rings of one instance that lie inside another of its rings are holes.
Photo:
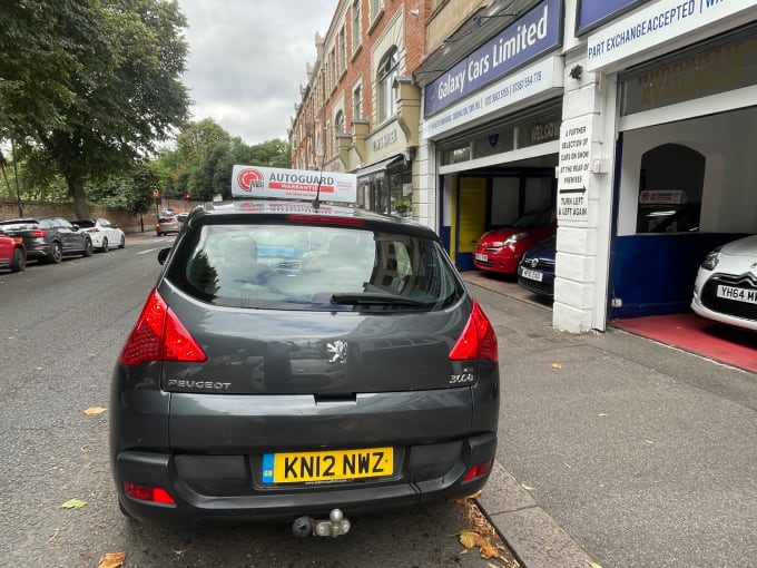
[[[757,235],[726,243],[705,256],[694,283],[691,310],[757,331]]]

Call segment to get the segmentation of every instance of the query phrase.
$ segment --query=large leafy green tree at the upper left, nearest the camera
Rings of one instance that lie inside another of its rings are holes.
[[[11,31],[0,33],[3,57],[12,55],[0,66],[0,118],[17,139],[32,137],[39,144],[66,179],[75,215],[85,218],[87,179],[126,170],[186,120],[189,99],[180,75],[187,46],[179,33],[186,20],[176,0],[16,4]],[[35,29],[49,30],[48,18],[52,31]],[[26,33],[31,46],[17,45],[17,57],[8,49],[10,40],[21,45]],[[24,62],[32,65],[26,69]],[[47,85],[51,92],[40,94]]]

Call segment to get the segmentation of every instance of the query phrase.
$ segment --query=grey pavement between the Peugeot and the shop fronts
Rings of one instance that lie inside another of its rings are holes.
[[[463,273],[498,334],[500,444],[478,503],[524,568],[757,566],[757,374]]]

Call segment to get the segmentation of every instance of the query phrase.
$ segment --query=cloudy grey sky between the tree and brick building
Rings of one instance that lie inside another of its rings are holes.
[[[178,0],[189,45],[191,120],[212,118],[250,146],[286,139],[338,0]]]

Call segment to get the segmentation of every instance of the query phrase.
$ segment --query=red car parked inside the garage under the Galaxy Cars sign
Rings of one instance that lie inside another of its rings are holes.
[[[509,227],[494,228],[481,235],[473,251],[473,265],[481,271],[517,274],[523,254],[552,238],[557,229],[553,207],[527,213]]]

